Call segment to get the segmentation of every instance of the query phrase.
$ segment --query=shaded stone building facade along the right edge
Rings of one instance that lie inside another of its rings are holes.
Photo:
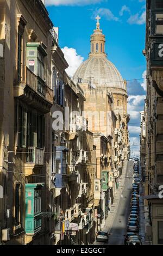
[[[142,125],[146,123],[146,138],[141,136],[141,165],[143,169],[146,239],[152,245],[163,244],[163,128],[162,128],[162,49],[163,49],[163,3],[147,1],[146,13],[147,97]],[[143,132],[143,131],[142,131]],[[145,147],[146,144],[146,147]],[[142,162],[143,161],[143,162]]]

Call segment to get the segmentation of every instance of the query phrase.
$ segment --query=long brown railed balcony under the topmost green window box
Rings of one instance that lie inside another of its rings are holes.
[[[27,66],[14,67],[14,96],[43,113],[48,113],[53,105],[53,90],[45,82],[39,83],[39,77]]]

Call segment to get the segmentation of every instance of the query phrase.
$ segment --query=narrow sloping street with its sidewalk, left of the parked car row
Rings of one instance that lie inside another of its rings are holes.
[[[112,221],[111,229],[109,227],[104,228],[104,231],[109,231],[109,242],[108,245],[124,245],[124,235],[126,234],[128,216],[130,211],[130,194],[131,194],[131,184],[133,178],[133,161],[128,161],[126,173],[123,172],[121,175],[121,182],[123,184],[120,186],[122,191],[120,196],[120,201],[118,203],[117,210],[115,210],[114,221]],[[131,178],[127,178],[131,177]],[[123,180],[124,179],[124,180]],[[107,223],[107,221],[106,221]],[[110,229],[110,230],[109,230]],[[96,242],[96,245],[105,245],[103,242]]]

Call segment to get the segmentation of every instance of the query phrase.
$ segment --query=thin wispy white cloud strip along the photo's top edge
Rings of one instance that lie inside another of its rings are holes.
[[[89,5],[101,3],[104,0],[46,0],[46,5]]]

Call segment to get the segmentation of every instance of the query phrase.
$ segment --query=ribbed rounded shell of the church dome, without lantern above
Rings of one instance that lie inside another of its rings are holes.
[[[79,66],[74,74],[74,82],[78,82],[78,78],[82,78],[82,83],[88,83],[91,78],[92,85],[96,87],[106,86],[126,90],[123,78],[120,72],[102,54],[95,54],[89,57],[82,65]]]

